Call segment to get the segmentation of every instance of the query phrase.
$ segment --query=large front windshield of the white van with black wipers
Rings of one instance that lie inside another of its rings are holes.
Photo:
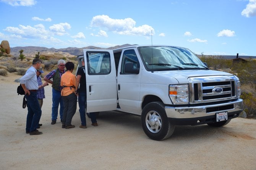
[[[148,71],[201,70],[208,68],[189,49],[172,46],[141,46],[138,51]]]

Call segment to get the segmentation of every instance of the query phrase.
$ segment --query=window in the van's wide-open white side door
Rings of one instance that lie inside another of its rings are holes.
[[[107,75],[111,71],[109,52],[87,51],[86,60],[89,75]]]

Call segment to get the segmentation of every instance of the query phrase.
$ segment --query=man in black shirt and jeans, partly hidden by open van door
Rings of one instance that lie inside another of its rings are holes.
[[[76,73],[76,95],[78,96],[79,113],[81,118],[80,128],[86,129],[86,78],[85,78],[85,67],[84,59],[82,59],[82,67],[78,68]],[[79,88],[78,88],[79,86]],[[92,126],[98,126],[95,113],[90,113]]]

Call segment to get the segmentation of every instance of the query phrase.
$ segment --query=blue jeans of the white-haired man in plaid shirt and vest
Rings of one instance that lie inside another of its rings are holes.
[[[60,120],[62,120],[63,109],[64,109],[62,95],[60,94],[60,91],[52,89],[52,120],[56,121],[57,119],[59,104],[60,104]]]

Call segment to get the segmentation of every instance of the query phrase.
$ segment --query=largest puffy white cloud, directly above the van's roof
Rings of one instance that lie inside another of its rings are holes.
[[[97,15],[92,17],[91,27],[105,28],[114,33],[122,35],[145,35],[151,36],[155,33],[154,29],[149,25],[141,25],[135,27],[136,22],[131,18],[112,19],[107,15]]]

